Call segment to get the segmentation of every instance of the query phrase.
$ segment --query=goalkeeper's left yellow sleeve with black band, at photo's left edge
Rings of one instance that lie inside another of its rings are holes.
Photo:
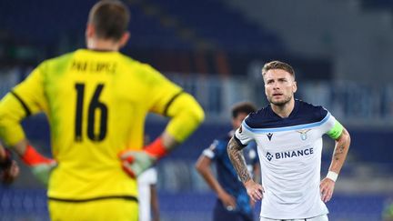
[[[46,108],[43,68],[39,65],[0,102],[0,137],[9,146],[25,138],[20,122],[27,116],[35,115]]]

